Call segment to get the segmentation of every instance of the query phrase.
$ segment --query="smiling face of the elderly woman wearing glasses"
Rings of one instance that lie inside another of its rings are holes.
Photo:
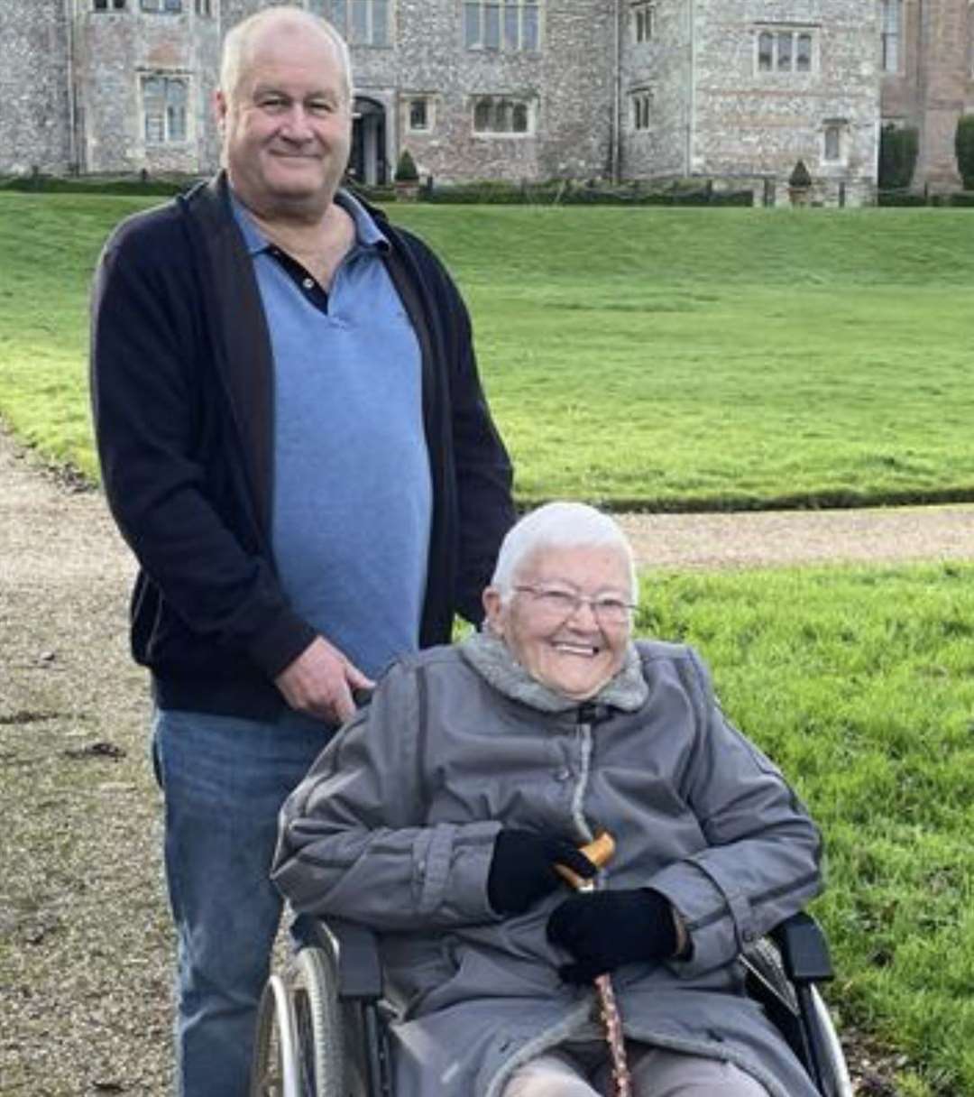
[[[587,600],[573,608],[578,595]],[[622,669],[631,631],[627,612],[598,612],[589,600],[618,611],[630,597],[618,548],[571,546],[540,550],[519,569],[510,599],[488,587],[484,606],[491,632],[532,678],[582,701]]]

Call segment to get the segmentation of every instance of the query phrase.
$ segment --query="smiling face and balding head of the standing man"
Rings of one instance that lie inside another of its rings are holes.
[[[351,145],[337,47],[324,33],[272,24],[242,60],[237,87],[217,94],[234,191],[265,217],[320,215],[341,182]]]

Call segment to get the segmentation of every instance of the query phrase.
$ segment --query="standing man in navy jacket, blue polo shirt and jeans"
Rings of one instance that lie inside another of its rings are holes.
[[[344,43],[276,7],[227,36],[225,171],[105,246],[92,394],[140,572],[135,658],[179,936],[184,1097],[247,1092],[278,810],[353,694],[446,641],[512,521],[463,303],[339,189]]]

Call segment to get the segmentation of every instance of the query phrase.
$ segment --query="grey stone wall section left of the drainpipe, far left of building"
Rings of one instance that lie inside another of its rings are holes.
[[[0,3],[0,172],[67,172],[71,147],[64,0]]]

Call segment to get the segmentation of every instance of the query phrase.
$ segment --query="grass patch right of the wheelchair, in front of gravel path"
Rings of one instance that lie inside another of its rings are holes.
[[[822,826],[839,1025],[974,1095],[974,565],[648,574],[637,631],[699,647]]]

